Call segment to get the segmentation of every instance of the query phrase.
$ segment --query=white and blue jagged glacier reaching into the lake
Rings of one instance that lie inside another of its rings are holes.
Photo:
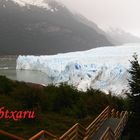
[[[54,85],[65,82],[82,91],[93,88],[123,95],[129,90],[129,60],[133,60],[134,53],[140,60],[140,44],[99,47],[56,55],[20,55],[16,69],[44,72]]]

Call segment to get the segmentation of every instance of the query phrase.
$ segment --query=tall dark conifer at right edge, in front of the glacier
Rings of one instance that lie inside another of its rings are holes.
[[[125,139],[139,140],[140,139],[140,64],[138,56],[133,55],[133,60],[130,61],[131,69],[128,71],[131,75],[129,80],[130,93],[128,95],[129,103],[129,120],[124,131]]]

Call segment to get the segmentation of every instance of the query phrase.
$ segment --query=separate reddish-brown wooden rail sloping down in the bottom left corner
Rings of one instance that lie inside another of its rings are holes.
[[[25,140],[24,138],[18,137],[3,130],[0,130],[0,136],[4,137],[6,140]]]

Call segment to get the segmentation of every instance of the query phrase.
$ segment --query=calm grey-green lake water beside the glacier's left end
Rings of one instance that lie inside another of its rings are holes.
[[[32,82],[38,84],[50,84],[52,81],[47,74],[39,71],[16,70],[17,56],[0,56],[0,75],[12,80]]]

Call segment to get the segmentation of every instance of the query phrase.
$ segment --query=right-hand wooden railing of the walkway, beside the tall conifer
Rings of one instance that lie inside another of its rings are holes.
[[[126,125],[126,122],[128,120],[128,112],[122,111],[119,113],[118,111],[115,112],[113,109],[111,111],[112,117],[120,118],[120,122],[118,123],[116,129],[113,131],[110,127],[108,127],[103,135],[100,137],[100,140],[118,140],[121,136],[121,133]]]

